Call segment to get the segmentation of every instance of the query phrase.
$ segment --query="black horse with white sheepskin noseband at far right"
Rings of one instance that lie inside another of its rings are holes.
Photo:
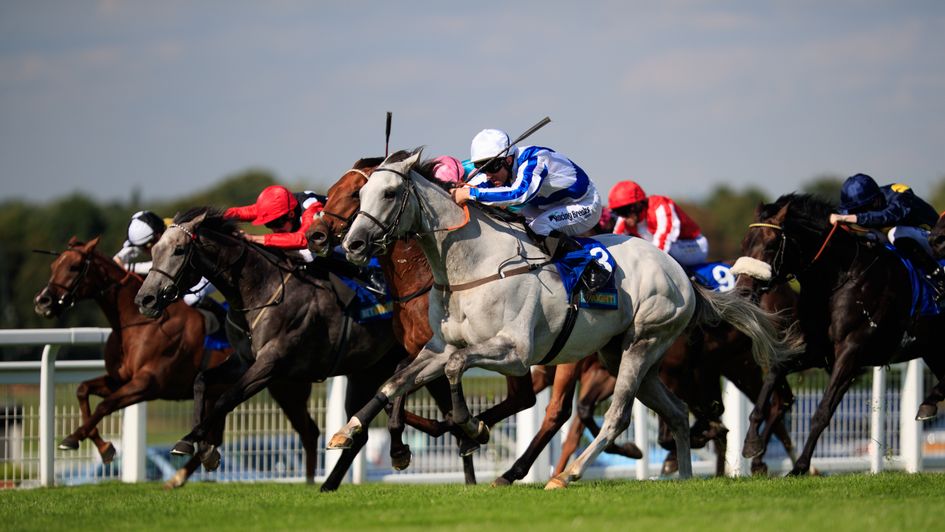
[[[763,449],[758,425],[778,377],[814,367],[830,372],[792,475],[809,471],[817,439],[866,367],[922,357],[939,383],[923,401],[919,419],[936,414],[935,397],[945,389],[945,315],[914,316],[909,274],[900,258],[846,226],[831,226],[832,211],[821,200],[797,194],[760,206],[757,223],[742,242],[748,258],[740,261],[745,267],[736,263],[736,270],[748,273],[739,275],[739,284],[748,285],[755,295],[793,277],[800,281],[797,317],[807,344],[801,355],[771,368],[766,376],[751,414],[744,455],[752,457]]]

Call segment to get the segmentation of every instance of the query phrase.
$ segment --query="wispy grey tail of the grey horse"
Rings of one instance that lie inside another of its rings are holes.
[[[696,312],[692,325],[716,326],[725,322],[751,339],[751,354],[762,368],[770,368],[804,351],[804,339],[796,327],[782,327],[783,318],[751,302],[735,289],[716,292],[693,283]]]

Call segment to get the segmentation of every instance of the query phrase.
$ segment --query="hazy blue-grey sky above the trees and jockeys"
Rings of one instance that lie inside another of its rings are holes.
[[[698,200],[945,179],[945,2],[0,1],[0,200],[326,190],[476,132]]]

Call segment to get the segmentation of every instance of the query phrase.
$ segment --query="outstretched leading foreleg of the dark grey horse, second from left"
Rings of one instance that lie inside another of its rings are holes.
[[[203,416],[193,430],[174,445],[171,449],[173,454],[192,455],[194,442],[205,441],[214,425],[226,419],[226,415],[239,404],[256,395],[274,378],[279,377],[277,374],[279,372],[276,371],[279,355],[275,346],[269,345],[259,351],[256,361],[216,400],[213,408]]]

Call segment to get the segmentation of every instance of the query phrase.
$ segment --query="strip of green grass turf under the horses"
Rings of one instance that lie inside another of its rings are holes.
[[[117,483],[0,492],[2,530],[941,530],[945,475],[541,485]]]

